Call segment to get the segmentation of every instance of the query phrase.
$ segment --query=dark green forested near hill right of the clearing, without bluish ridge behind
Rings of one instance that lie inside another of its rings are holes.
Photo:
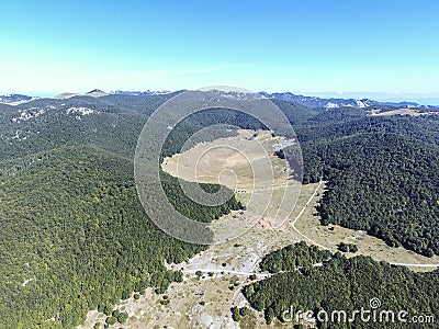
[[[322,224],[439,254],[439,147],[401,135],[363,134],[307,150],[305,172],[323,172],[328,180],[318,207]]]

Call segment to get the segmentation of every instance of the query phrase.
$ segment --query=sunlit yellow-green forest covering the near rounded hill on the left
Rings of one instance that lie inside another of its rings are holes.
[[[77,146],[19,162],[0,178],[0,327],[72,327],[89,309],[132,292],[164,291],[181,280],[164,260],[181,262],[203,249],[175,240],[146,217],[124,158]],[[227,206],[194,204],[169,175],[164,186],[196,220],[237,206],[234,198]],[[46,322],[52,317],[57,321]]]

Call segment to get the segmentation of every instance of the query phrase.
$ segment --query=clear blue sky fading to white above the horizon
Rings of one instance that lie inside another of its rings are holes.
[[[437,0],[0,0],[0,94],[228,84],[439,98]]]

